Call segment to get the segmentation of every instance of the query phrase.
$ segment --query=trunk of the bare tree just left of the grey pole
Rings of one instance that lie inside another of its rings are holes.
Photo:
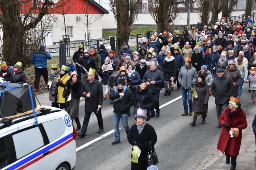
[[[168,31],[169,21],[168,21],[168,8],[165,0],[159,0],[159,6],[157,11],[157,32],[162,33],[163,31]],[[166,9],[166,10],[165,10]]]

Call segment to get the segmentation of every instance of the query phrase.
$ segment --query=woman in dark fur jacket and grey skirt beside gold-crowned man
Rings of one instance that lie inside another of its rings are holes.
[[[82,82],[78,79],[76,72],[70,73],[71,78],[67,81],[64,91],[63,98],[67,98],[66,111],[69,113],[71,120],[75,119],[76,131],[81,129],[79,121],[79,103],[80,103],[80,92],[82,88]],[[71,97],[71,99],[69,99]]]

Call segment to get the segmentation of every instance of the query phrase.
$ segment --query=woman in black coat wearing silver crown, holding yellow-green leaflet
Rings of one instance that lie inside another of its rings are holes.
[[[133,146],[132,151],[134,149],[140,149],[141,153],[138,158],[138,163],[131,163],[131,170],[146,170],[147,169],[147,153],[148,148],[150,147],[150,141],[152,148],[157,141],[157,135],[155,129],[150,124],[146,122],[147,111],[145,109],[138,109],[137,115],[135,118],[137,119],[137,123],[131,126],[130,133],[127,137],[129,143]],[[137,147],[138,148],[137,148]],[[132,157],[136,157],[133,155],[135,153],[132,152]]]

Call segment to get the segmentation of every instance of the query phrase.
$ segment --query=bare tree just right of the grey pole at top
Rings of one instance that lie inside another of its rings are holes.
[[[207,25],[209,23],[209,19],[210,19],[210,11],[212,9],[212,3],[213,1],[209,1],[209,0],[198,0],[196,1],[197,6],[199,7],[199,11],[200,13],[198,13],[200,19],[201,19],[201,23],[203,25]]]

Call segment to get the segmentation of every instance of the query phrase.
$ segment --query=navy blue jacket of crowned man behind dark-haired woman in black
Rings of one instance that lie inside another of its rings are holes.
[[[155,69],[154,71],[147,70],[143,76],[143,80],[150,83],[151,81],[155,81],[155,84],[150,84],[149,88],[152,93],[160,93],[160,85],[163,84],[163,73],[162,71]]]

